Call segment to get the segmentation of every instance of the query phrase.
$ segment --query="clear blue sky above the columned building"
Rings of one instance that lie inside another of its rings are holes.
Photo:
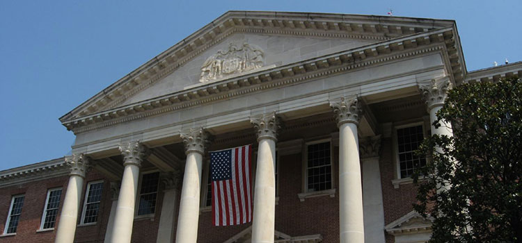
[[[522,60],[522,1],[0,1],[0,170],[70,153],[58,121],[227,10],[455,19],[468,70]]]

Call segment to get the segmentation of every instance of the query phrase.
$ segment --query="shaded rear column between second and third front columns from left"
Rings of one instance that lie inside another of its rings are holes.
[[[161,175],[161,182],[164,183],[165,190],[161,204],[161,215],[159,215],[157,243],[174,241],[176,197],[178,187],[181,184],[180,177],[181,171],[179,170]]]

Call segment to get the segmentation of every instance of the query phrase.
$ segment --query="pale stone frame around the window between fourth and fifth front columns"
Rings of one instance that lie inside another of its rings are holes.
[[[308,146],[313,145],[313,144],[321,144],[324,142],[330,142],[331,188],[326,189],[326,190],[321,190],[321,191],[309,192],[308,191]],[[325,196],[325,195],[329,195],[330,197],[335,196],[335,170],[334,170],[335,165],[334,165],[334,161],[333,161],[334,160],[333,156],[334,156],[333,142],[332,142],[331,137],[321,139],[321,140],[314,140],[314,141],[305,143],[305,149],[303,152],[303,164],[302,164],[303,165],[302,166],[303,167],[303,173],[302,173],[303,174],[303,187],[302,187],[303,192],[297,194],[300,201],[305,201],[306,198],[314,197],[314,196]]]

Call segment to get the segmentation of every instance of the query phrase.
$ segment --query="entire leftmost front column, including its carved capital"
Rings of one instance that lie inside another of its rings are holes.
[[[81,191],[89,161],[83,153],[65,156],[65,163],[70,167],[69,183],[63,200],[62,212],[56,231],[56,243],[72,243],[76,232]]]

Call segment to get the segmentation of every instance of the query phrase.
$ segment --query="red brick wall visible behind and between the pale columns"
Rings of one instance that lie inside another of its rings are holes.
[[[394,160],[392,158],[392,145],[389,138],[383,138],[381,146],[381,185],[383,188],[385,224],[402,217],[412,210],[411,204],[415,203],[416,189],[413,185],[401,185],[395,189],[391,183],[394,178]],[[334,148],[334,176],[335,187],[338,188],[338,148]],[[280,184],[278,188],[279,202],[276,206],[276,231],[291,236],[321,234],[324,243],[339,242],[339,197],[317,196],[299,201],[297,194],[302,192],[302,154],[297,153],[288,156],[280,156]],[[106,232],[109,212],[111,210],[111,192],[109,181],[102,174],[91,170],[84,181],[86,185],[90,181],[104,180],[104,191],[97,224],[91,226],[78,226],[74,242],[103,242]],[[20,218],[17,234],[14,236],[0,237],[0,242],[54,242],[56,230],[37,232],[42,219],[47,190],[55,187],[63,187],[61,204],[65,196],[68,184],[68,176],[47,179],[0,188],[0,227],[6,224],[6,218],[13,195],[24,193],[26,198],[22,216]],[[154,217],[134,220],[132,242],[156,242],[161,217],[161,203],[163,200],[163,185],[159,185],[157,208]],[[204,190],[204,188],[203,188]],[[176,203],[179,211],[180,193]],[[84,196],[82,196],[84,200]],[[83,201],[81,201],[83,206]],[[61,210],[61,208],[59,209]],[[81,217],[81,209],[79,210]],[[60,211],[58,211],[59,214]],[[177,217],[177,215],[176,215]],[[58,219],[59,220],[59,217]],[[56,222],[56,226],[58,221]],[[224,242],[233,235],[240,233],[251,224],[242,226],[212,226],[212,212],[201,212],[198,225],[198,242]],[[175,231],[175,229],[174,229]],[[392,235],[386,235],[386,242],[393,242]]]

